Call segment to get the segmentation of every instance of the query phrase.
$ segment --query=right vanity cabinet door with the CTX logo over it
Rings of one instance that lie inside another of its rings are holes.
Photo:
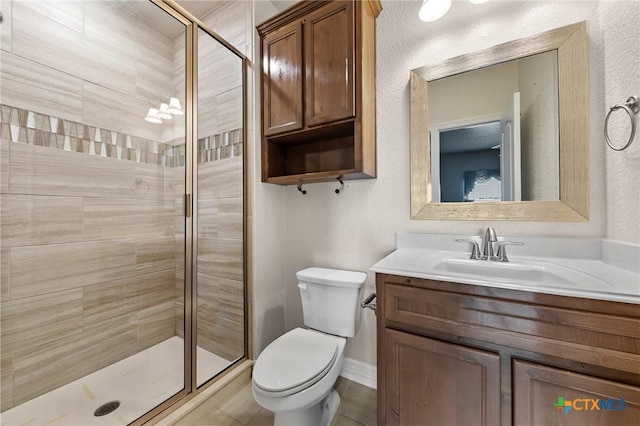
[[[640,388],[557,368],[513,362],[517,425],[640,425]]]

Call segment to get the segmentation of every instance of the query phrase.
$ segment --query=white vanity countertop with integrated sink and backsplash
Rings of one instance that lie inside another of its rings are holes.
[[[525,245],[509,246],[510,262],[502,263],[469,260],[470,245],[456,243],[459,238],[480,240],[461,235],[398,234],[397,249],[376,263],[372,270],[640,304],[640,248],[637,246],[598,239],[507,237],[504,240],[522,241]]]

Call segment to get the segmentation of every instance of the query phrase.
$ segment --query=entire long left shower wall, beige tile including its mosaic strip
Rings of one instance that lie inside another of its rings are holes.
[[[173,36],[127,7],[0,4],[2,410],[175,335]]]

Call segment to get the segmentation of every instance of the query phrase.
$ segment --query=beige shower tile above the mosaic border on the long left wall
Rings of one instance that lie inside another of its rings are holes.
[[[163,16],[141,1],[3,0],[0,11],[3,104],[156,141],[175,137],[141,118],[170,96],[184,101],[169,33],[181,24],[141,19]]]

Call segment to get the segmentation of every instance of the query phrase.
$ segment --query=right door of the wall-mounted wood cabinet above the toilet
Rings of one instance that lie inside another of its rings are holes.
[[[307,127],[355,116],[352,3],[331,2],[304,20]]]

